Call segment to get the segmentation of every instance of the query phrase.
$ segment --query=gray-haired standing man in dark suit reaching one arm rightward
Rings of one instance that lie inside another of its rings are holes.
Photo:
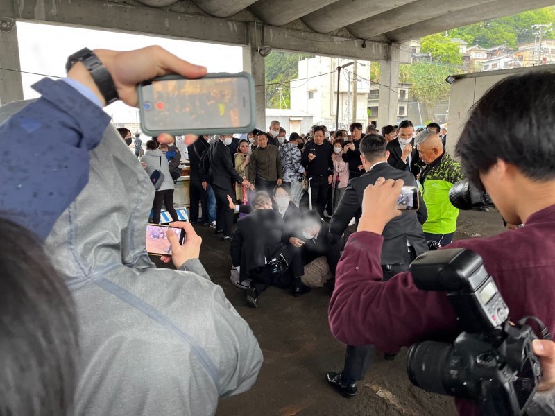
[[[245,185],[248,188],[253,186],[248,180],[243,179],[235,168],[231,159],[228,146],[231,144],[232,137],[221,137],[216,140],[208,151],[208,162],[210,173],[205,172],[205,167],[200,164],[200,177],[202,178],[203,188],[208,188],[208,182],[214,190],[216,196],[216,234],[222,233],[223,240],[231,240],[231,227],[233,225],[233,211],[228,207],[228,195],[232,194],[231,181]]]

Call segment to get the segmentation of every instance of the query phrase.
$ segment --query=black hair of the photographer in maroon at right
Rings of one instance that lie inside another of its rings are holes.
[[[456,144],[466,176],[481,187],[502,159],[532,180],[555,179],[555,73],[537,71],[504,78],[480,98]],[[511,121],[507,123],[507,121]]]

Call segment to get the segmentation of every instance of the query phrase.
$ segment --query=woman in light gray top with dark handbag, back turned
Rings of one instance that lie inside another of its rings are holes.
[[[146,142],[146,153],[141,157],[141,162],[146,164],[146,173],[151,177],[156,189],[152,205],[152,223],[160,224],[162,204],[166,206],[171,218],[178,221],[178,214],[173,208],[173,180],[169,173],[168,159],[154,140]]]

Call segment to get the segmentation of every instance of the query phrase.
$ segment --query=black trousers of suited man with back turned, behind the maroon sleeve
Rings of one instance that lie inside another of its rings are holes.
[[[409,265],[416,259],[416,253],[412,247],[407,248],[407,259],[409,264],[389,264],[382,265],[384,277],[382,281],[388,281],[391,277],[400,272],[408,272]],[[376,348],[373,345],[347,345],[345,354],[345,364],[343,365],[343,374],[341,381],[343,384],[353,384],[357,380],[362,380],[366,376],[366,372],[370,369],[372,357]],[[388,351],[391,352],[391,351]]]

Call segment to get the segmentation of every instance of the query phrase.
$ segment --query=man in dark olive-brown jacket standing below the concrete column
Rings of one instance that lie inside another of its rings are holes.
[[[280,150],[268,144],[268,137],[258,137],[258,146],[250,154],[248,179],[255,184],[257,191],[273,193],[276,185],[282,183],[283,168]]]

